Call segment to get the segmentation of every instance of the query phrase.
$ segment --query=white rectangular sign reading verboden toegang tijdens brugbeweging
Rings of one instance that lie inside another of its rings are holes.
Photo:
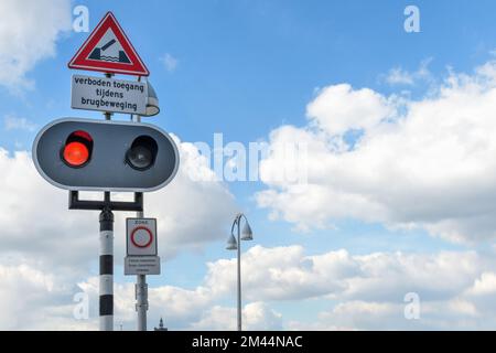
[[[143,82],[73,75],[74,109],[144,115],[148,85]]]

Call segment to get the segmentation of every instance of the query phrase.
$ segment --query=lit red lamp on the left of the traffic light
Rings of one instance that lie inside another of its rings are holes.
[[[65,141],[62,149],[62,160],[71,168],[80,168],[86,165],[91,158],[93,139],[86,131],[74,131]]]

